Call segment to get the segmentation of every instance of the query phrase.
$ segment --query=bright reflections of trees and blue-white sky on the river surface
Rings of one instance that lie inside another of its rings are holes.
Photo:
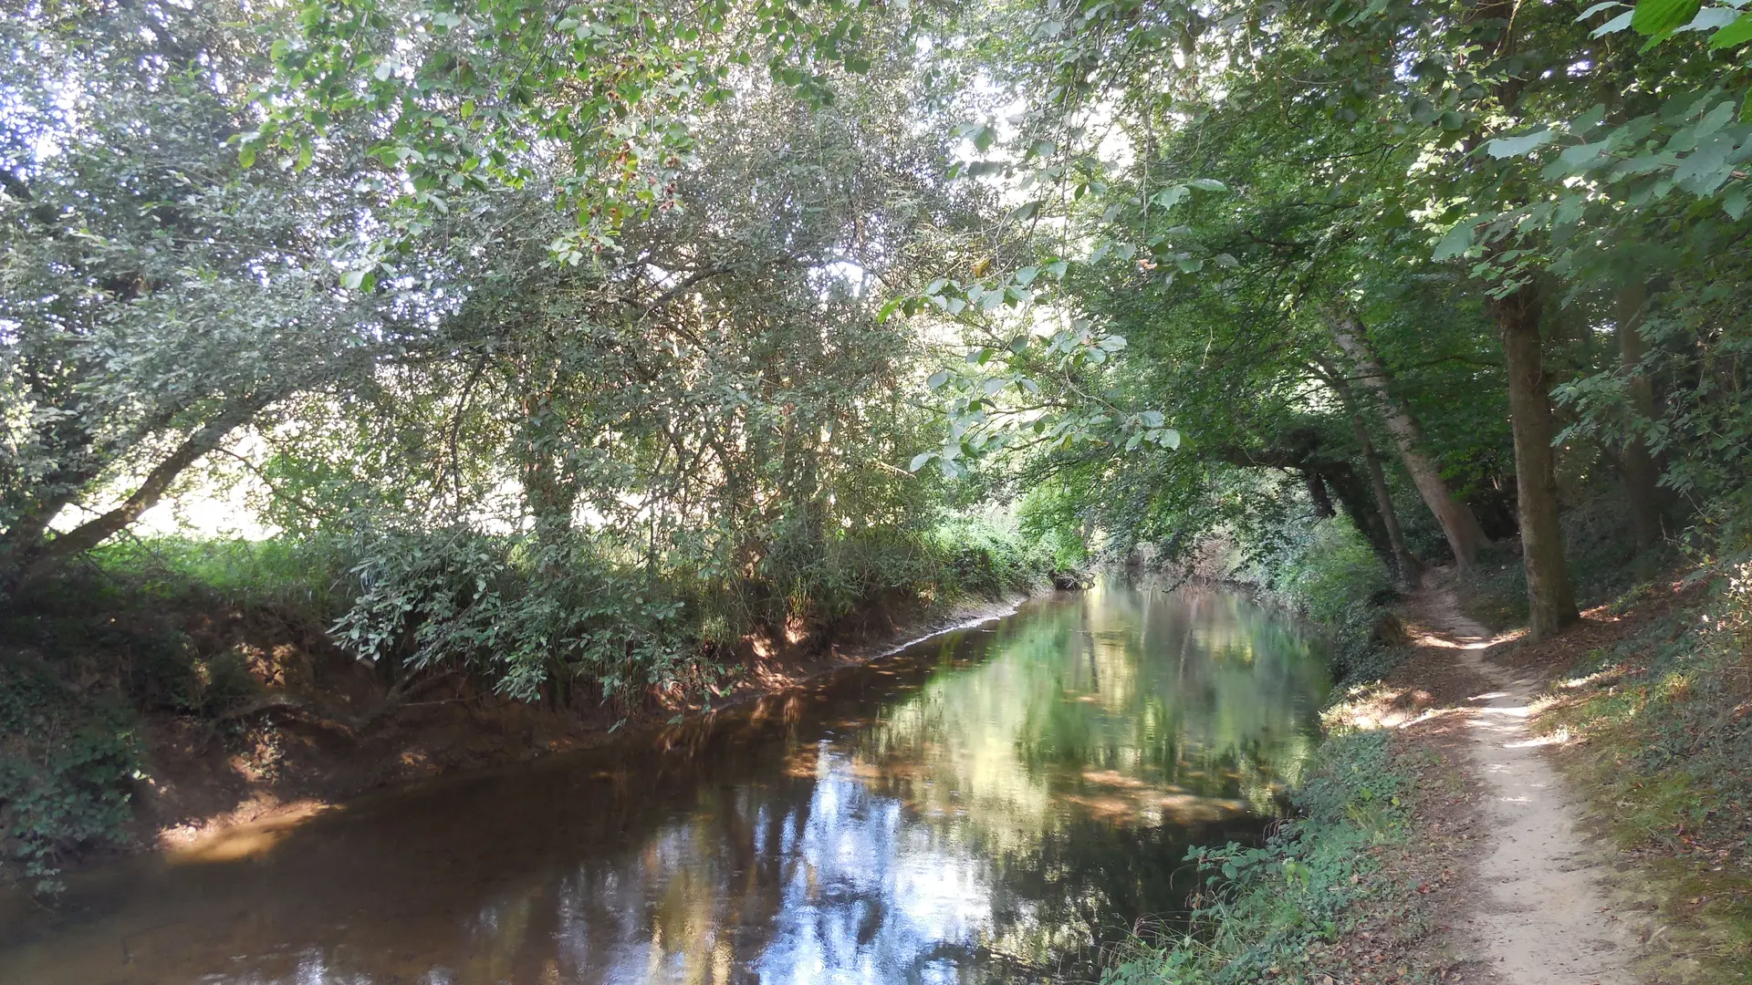
[[[1309,750],[1307,643],[1223,596],[1106,592],[976,645],[792,775],[706,787],[580,866],[550,920],[520,896],[477,932],[561,981],[1086,978],[1100,941],[1181,908],[1188,845],[1256,831]]]

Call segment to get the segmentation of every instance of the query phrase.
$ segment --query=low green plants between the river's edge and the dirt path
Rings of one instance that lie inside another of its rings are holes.
[[[1267,974],[1298,980],[1309,948],[1339,939],[1354,904],[1377,887],[1375,848],[1409,836],[1412,775],[1384,731],[1326,740],[1293,797],[1298,817],[1258,848],[1193,848],[1204,875],[1183,931],[1123,946],[1104,985],[1219,985]]]

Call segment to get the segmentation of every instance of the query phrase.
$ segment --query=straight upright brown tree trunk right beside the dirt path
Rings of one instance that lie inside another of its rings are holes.
[[[1521,507],[1521,559],[1528,573],[1528,633],[1552,636],[1580,615],[1558,526],[1558,468],[1551,447],[1551,401],[1540,352],[1540,293],[1524,286],[1491,301],[1508,361],[1508,415],[1515,435],[1515,489]]]

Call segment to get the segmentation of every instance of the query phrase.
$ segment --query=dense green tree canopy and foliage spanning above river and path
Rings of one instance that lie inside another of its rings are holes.
[[[1559,633],[1594,557],[1741,563],[1752,449],[1752,21],[1572,7],[30,0],[0,594],[231,491],[398,696],[1120,559],[1358,631],[1512,564]]]

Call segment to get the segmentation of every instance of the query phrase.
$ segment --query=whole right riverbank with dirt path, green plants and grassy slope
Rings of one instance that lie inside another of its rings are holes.
[[[1431,573],[1396,666],[1326,712],[1296,817],[1209,859],[1193,931],[1116,980],[1743,981],[1752,701],[1701,582],[1533,643]]]

